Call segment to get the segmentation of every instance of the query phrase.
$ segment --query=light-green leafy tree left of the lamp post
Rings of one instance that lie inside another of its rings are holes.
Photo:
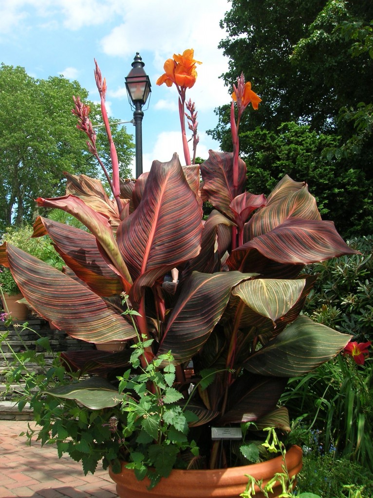
[[[78,82],[63,77],[35,80],[21,67],[0,66],[0,232],[12,223],[31,223],[34,199],[63,195],[64,171],[101,176],[87,152],[84,134],[76,129],[72,96],[86,100],[88,93]],[[99,115],[92,105],[94,115]],[[98,121],[98,123],[101,123]],[[131,136],[118,125],[122,174],[128,176],[133,155]],[[103,159],[108,145],[98,132]]]

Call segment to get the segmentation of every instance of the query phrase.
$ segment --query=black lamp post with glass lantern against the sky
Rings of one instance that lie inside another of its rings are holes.
[[[132,69],[126,76],[126,89],[128,101],[134,111],[134,120],[136,127],[136,178],[143,172],[143,132],[142,121],[144,113],[142,107],[146,103],[151,90],[149,76],[144,71],[144,62],[140,57],[139,52],[132,63]]]

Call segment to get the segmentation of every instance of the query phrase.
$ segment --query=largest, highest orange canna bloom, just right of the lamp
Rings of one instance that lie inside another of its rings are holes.
[[[183,54],[174,54],[173,59],[167,59],[164,65],[165,74],[157,80],[157,85],[166,83],[171,87],[173,83],[179,87],[191,88],[197,78],[195,64],[202,64],[193,59],[194,50],[188,48]]]

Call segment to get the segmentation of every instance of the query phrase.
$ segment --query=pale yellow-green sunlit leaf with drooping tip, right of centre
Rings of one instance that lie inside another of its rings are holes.
[[[285,316],[300,299],[305,283],[304,279],[256,278],[238,284],[232,290],[232,295],[239,296],[248,308],[269,318],[275,326],[276,321]]]

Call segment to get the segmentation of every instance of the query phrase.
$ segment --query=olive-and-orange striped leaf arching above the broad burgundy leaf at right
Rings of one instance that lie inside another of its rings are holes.
[[[270,232],[289,218],[321,220],[316,200],[309,193],[307,184],[285,177],[268,197],[267,205],[245,225],[244,241]]]

